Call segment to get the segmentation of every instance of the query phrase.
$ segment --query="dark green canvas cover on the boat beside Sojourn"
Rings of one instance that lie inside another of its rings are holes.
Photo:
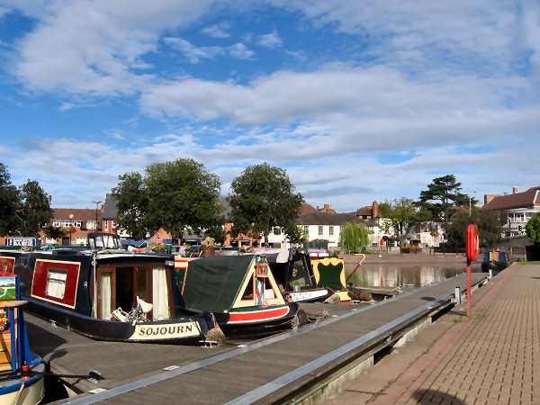
[[[200,311],[228,311],[254,260],[255,255],[218,255],[190,261],[183,293],[186,307]]]

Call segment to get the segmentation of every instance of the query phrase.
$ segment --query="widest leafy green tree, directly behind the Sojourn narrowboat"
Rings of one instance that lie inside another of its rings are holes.
[[[178,241],[184,229],[202,234],[224,223],[220,179],[193,159],[154,163],[147,166],[144,178],[129,173],[119,179],[112,195],[118,202],[119,225],[131,235],[162,228]]]

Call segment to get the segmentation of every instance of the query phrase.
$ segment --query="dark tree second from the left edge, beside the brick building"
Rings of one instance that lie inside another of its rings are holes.
[[[23,236],[38,236],[41,229],[53,217],[50,210],[50,196],[35,180],[28,180],[20,187],[21,201],[16,215],[21,220],[19,228]]]

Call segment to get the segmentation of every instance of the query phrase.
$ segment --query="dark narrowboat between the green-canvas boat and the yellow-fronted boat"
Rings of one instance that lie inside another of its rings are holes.
[[[275,281],[288,301],[324,302],[334,295],[334,291],[328,286],[317,285],[307,250],[299,248],[254,250],[255,253],[266,256]]]

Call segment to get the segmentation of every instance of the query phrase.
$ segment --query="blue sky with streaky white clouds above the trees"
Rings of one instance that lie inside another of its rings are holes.
[[[54,208],[193,158],[317,207],[539,184],[540,2],[0,0],[0,163]]]

